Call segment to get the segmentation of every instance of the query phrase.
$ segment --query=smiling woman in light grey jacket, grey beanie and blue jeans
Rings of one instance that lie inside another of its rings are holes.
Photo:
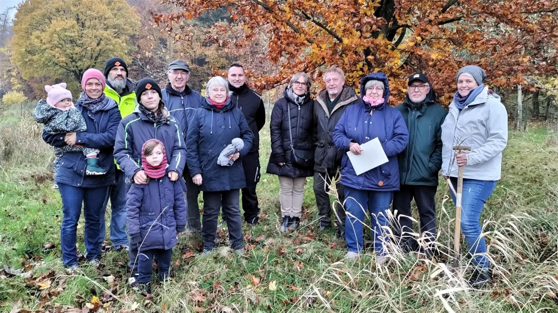
[[[496,188],[502,168],[502,151],[508,142],[508,114],[500,97],[483,85],[486,73],[468,65],[457,74],[457,89],[442,124],[442,174],[457,184],[458,167],[465,166],[461,199],[461,231],[473,254],[469,284],[481,287],[490,281],[480,213]],[[453,146],[469,146],[459,152]],[[451,192],[455,203],[455,195]]]

